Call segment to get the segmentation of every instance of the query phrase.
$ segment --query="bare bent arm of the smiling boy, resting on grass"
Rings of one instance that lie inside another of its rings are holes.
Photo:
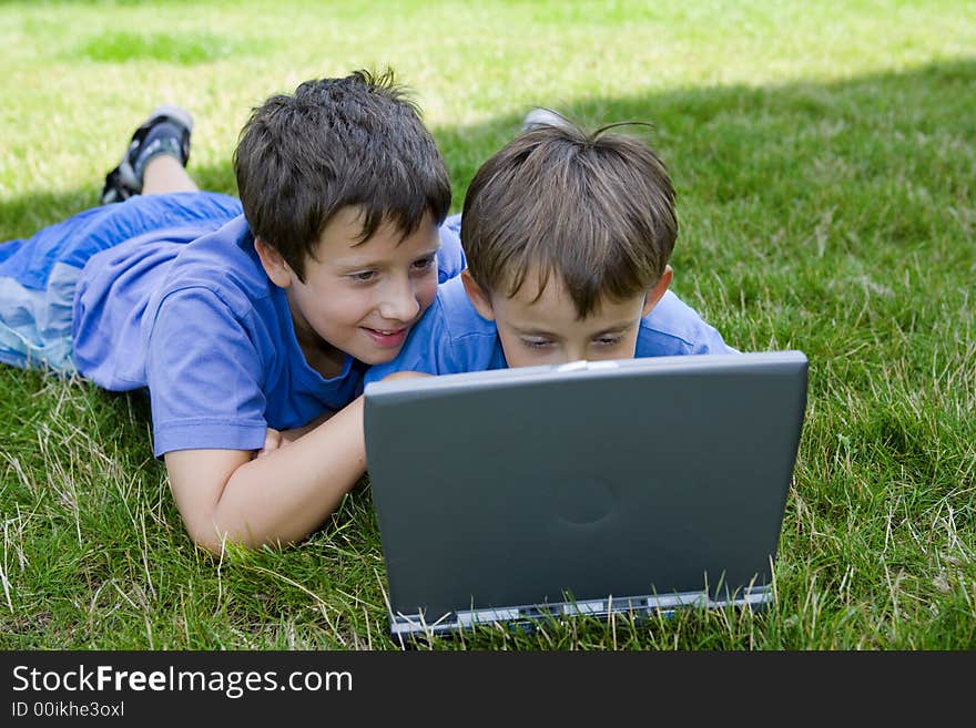
[[[176,450],[170,486],[191,539],[220,553],[299,541],[336,510],[366,470],[363,397],[285,448]]]

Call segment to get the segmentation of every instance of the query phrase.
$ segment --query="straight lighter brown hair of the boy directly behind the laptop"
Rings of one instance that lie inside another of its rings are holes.
[[[555,112],[553,112],[555,113]],[[475,174],[461,245],[475,281],[515,296],[529,271],[539,293],[553,273],[579,318],[604,296],[622,300],[664,273],[678,218],[668,170],[640,140],[589,133],[557,115],[509,142]]]

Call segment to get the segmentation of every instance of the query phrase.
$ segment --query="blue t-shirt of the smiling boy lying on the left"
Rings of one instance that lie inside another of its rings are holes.
[[[443,227],[440,237],[445,280],[465,262],[457,236]],[[267,428],[345,407],[367,369],[347,356],[326,379],[306,363],[243,215],[195,239],[171,229],[93,256],[75,294],[74,358],[101,387],[149,388],[156,457],[258,449]]]

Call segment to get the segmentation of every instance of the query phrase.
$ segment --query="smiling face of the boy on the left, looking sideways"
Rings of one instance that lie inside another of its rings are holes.
[[[342,371],[346,353],[369,365],[396,357],[437,293],[440,236],[429,214],[403,239],[384,221],[357,245],[362,229],[357,208],[336,213],[305,260],[304,283],[274,249],[257,246],[268,276],[286,289],[306,360],[326,377]]]

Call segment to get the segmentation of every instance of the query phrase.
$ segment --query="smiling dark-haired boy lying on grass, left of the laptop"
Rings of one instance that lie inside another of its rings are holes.
[[[288,543],[365,470],[365,370],[464,266],[447,171],[389,72],[256,107],[240,203],[185,174],[191,125],[157,110],[106,176],[116,204],[0,245],[0,361],[146,388],[193,541]]]

